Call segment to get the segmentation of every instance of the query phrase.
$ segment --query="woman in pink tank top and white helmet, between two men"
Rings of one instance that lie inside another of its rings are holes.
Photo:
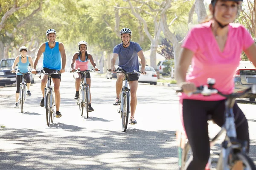
[[[79,47],[79,51],[73,55],[71,68],[70,68],[71,71],[74,72],[78,68],[80,69],[80,71],[88,70],[89,60],[90,60],[91,64],[93,65],[93,67],[95,68],[95,71],[98,71],[98,68],[96,67],[96,63],[94,62],[92,55],[87,53],[87,42],[80,41],[78,43],[78,47]],[[75,63],[75,67],[74,67],[74,63]],[[75,94],[74,99],[78,99],[79,98],[79,87],[80,87],[82,75],[80,73],[74,73],[73,77],[76,79],[76,83],[75,83],[76,94]],[[90,79],[89,72],[86,73],[86,82],[89,85],[89,89],[90,89],[91,79]],[[90,102],[91,101],[92,101],[92,99],[91,99],[91,94],[90,94]],[[88,105],[89,105],[89,111],[90,112],[94,111],[92,104],[88,103]]]

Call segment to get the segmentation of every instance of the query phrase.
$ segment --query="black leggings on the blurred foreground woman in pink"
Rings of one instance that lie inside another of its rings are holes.
[[[193,158],[190,159],[187,170],[204,170],[210,156],[208,115],[211,114],[212,120],[221,127],[224,124],[225,100],[200,101],[184,99],[182,109],[186,135],[193,152]],[[233,112],[237,139],[246,140],[248,142],[247,149],[249,150],[250,139],[247,119],[237,103],[234,105]]]

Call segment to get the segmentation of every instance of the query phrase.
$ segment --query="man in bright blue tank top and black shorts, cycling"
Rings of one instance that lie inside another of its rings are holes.
[[[36,74],[35,68],[38,64],[38,60],[41,55],[44,53],[43,59],[43,68],[46,73],[52,73],[55,70],[59,70],[60,73],[65,72],[66,66],[66,53],[63,43],[56,42],[56,31],[54,29],[49,29],[46,31],[46,36],[48,42],[43,43],[35,56],[34,68],[32,70],[33,74]],[[61,62],[62,59],[62,62]],[[61,83],[61,74],[52,74],[52,81],[54,83],[54,93],[55,93],[55,105],[56,105],[56,117],[61,117],[61,112],[59,111],[61,95],[60,95],[60,83]],[[43,75],[41,77],[41,91],[43,97],[40,102],[40,106],[44,107],[44,88],[47,83],[48,76]]]

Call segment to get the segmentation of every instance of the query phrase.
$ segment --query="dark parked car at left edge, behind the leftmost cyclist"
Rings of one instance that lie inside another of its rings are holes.
[[[12,85],[16,83],[16,74],[11,73],[12,64],[15,58],[10,59],[2,59],[0,62],[0,86]],[[17,69],[17,65],[15,66],[15,70]],[[32,68],[29,66],[29,71]],[[34,83],[34,74],[31,74],[31,83]]]

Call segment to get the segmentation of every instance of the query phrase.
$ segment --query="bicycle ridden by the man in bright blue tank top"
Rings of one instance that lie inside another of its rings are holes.
[[[56,70],[52,73],[45,73],[44,70],[37,71],[37,73],[43,73],[48,76],[47,86],[44,88],[44,108],[46,109],[46,122],[47,126],[50,125],[50,121],[53,123],[53,119],[55,117],[55,95],[54,90],[52,88],[52,74],[61,74],[60,71]]]

